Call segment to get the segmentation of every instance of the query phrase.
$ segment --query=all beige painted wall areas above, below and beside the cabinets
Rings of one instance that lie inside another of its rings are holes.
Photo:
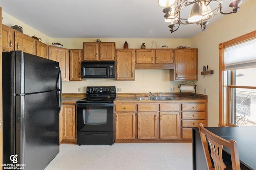
[[[219,121],[219,76],[218,76],[218,44],[244,35],[256,30],[256,0],[251,0],[237,14],[227,15],[221,21],[208,27],[204,33],[192,37],[191,39],[156,39],[158,48],[167,45],[169,48],[176,48],[186,45],[198,48],[198,82],[197,92],[203,94],[206,88],[208,95],[208,126],[218,126]],[[4,10],[4,9],[3,9]],[[218,14],[220,15],[220,14]],[[40,33],[34,28],[16,20],[12,16],[3,12],[3,23],[8,26],[20,25],[24,33],[29,36],[36,35],[46,44],[61,43],[68,49],[82,49],[82,42],[95,42],[95,39],[51,39],[47,35]],[[210,21],[210,20],[209,20]],[[153,39],[101,39],[102,42],[116,42],[116,48],[123,48],[125,41],[129,48],[140,48],[142,43],[146,43],[146,48],[151,47]],[[200,75],[203,66],[211,66],[214,74]],[[168,70],[136,70],[135,81],[115,81],[115,80],[86,80],[82,82],[63,82],[64,93],[77,93],[78,88],[85,92],[86,86],[116,86],[122,88],[122,92],[170,92],[170,87],[175,87],[178,92],[180,82],[169,81]]]

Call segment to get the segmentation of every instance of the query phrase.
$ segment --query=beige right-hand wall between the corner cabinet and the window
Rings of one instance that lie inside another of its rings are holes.
[[[256,30],[256,0],[241,7],[237,14],[230,14],[211,25],[203,33],[192,37],[192,47],[198,48],[197,92],[208,95],[208,126],[219,123],[219,50],[218,45]],[[209,20],[210,21],[210,20]],[[214,74],[201,76],[203,66],[211,66]]]

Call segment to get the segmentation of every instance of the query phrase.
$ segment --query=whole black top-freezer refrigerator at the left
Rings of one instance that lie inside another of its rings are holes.
[[[2,64],[3,164],[42,170],[59,153],[59,63],[11,51]]]

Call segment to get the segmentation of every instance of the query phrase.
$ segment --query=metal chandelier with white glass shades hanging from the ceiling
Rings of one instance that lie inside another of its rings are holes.
[[[239,5],[242,0],[233,0],[229,7],[231,12],[222,12],[222,0],[158,0],[158,4],[164,7],[165,22],[169,22],[170,31],[177,31],[180,24],[198,24],[201,26],[202,32],[207,28],[208,19],[221,14],[232,14],[240,10]],[[191,8],[189,16],[184,16],[184,8]],[[212,9],[213,10],[212,10]]]

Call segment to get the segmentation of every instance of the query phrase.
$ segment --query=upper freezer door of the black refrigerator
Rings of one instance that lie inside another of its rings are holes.
[[[13,52],[14,53],[14,52]],[[60,89],[59,63],[22,51],[15,51],[16,94]]]

